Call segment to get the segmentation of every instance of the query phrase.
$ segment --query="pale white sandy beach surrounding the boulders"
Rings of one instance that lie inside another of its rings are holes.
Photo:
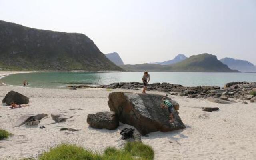
[[[6,72],[0,72],[6,74]],[[62,142],[75,143],[102,152],[107,146],[121,147],[120,124],[116,130],[94,129],[86,123],[90,113],[109,111],[110,92],[142,92],[141,90],[107,91],[106,89],[44,89],[21,86],[0,86],[0,100],[10,90],[30,98],[30,106],[9,109],[0,103],[0,128],[14,136],[0,141],[0,159],[36,157]],[[163,92],[148,92],[165,95]],[[154,132],[142,136],[142,142],[153,147],[156,160],[255,160],[256,158],[256,103],[216,104],[204,99],[170,96],[180,104],[180,117],[186,129],[174,132]],[[204,112],[198,107],[219,107],[217,112]],[[70,109],[75,110],[70,110]],[[80,110],[77,110],[80,108]],[[51,113],[74,117],[63,123],[52,124]],[[24,114],[45,113],[39,127],[14,127]],[[61,127],[81,129],[77,132],[60,131]]]

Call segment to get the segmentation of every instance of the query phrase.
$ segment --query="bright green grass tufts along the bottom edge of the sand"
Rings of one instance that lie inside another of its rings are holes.
[[[43,152],[38,160],[153,160],[153,149],[142,142],[128,142],[124,148],[108,147],[98,154],[74,144],[60,144]]]

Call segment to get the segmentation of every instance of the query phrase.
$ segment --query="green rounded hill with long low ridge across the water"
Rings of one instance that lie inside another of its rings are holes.
[[[124,70],[136,72],[238,72],[231,70],[227,65],[220,62],[215,55],[199,54],[190,56],[182,62],[172,65],[160,64],[135,64],[121,65]]]

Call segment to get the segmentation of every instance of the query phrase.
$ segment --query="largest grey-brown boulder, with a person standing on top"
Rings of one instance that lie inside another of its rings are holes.
[[[186,128],[178,112],[174,109],[174,122],[169,122],[169,112],[162,109],[162,97],[158,94],[134,94],[112,92],[109,94],[108,106],[118,115],[120,122],[134,126],[142,135],[150,132],[168,132]],[[178,103],[166,97],[176,107]]]

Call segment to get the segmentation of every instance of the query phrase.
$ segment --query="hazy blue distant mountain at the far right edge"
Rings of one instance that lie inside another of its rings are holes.
[[[220,59],[220,61],[226,65],[228,65],[229,68],[234,70],[239,70],[241,72],[255,72],[256,68],[254,64],[246,61],[246,60],[236,60],[234,58],[223,58]]]

